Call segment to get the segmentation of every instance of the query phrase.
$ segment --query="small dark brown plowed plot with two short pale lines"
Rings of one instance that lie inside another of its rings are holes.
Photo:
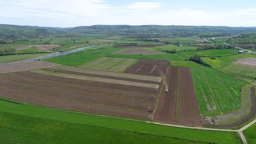
[[[132,65],[124,72],[152,76],[164,76],[168,65],[170,65],[170,62],[167,60],[140,59],[135,65]]]

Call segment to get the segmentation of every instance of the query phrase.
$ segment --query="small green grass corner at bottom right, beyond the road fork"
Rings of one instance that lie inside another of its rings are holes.
[[[243,131],[248,144],[256,144],[256,123]]]

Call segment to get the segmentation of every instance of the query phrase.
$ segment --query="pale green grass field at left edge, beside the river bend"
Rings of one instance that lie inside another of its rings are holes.
[[[4,55],[0,56],[0,63],[22,61],[29,58],[35,58],[43,55],[49,55],[49,53],[33,53],[33,54],[22,54],[22,55]]]

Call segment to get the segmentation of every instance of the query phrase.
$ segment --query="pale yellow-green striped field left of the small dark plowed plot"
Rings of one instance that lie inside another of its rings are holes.
[[[124,72],[127,68],[134,65],[138,60],[131,58],[109,58],[103,57],[95,61],[80,65],[81,68],[93,70]]]

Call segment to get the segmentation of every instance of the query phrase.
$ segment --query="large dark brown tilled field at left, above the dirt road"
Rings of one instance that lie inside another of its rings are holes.
[[[0,75],[0,95],[46,107],[150,120],[159,89],[49,76]]]

